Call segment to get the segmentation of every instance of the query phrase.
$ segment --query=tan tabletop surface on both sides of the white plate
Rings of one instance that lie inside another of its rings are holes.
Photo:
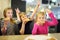
[[[0,40],[24,40],[30,35],[9,35],[9,36],[0,36]],[[48,36],[55,37],[60,40],[60,33],[49,33]]]

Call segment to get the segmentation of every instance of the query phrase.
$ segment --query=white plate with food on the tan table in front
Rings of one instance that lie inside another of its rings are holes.
[[[48,38],[51,38],[49,36],[45,36],[45,35],[30,35],[28,37],[26,37],[24,40],[47,40]]]

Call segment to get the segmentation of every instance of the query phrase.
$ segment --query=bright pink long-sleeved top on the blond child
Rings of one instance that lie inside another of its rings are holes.
[[[46,21],[44,25],[34,24],[32,34],[48,34],[48,27],[54,26],[58,24],[57,19],[53,16],[53,13],[50,13],[49,16],[51,17],[52,21]]]

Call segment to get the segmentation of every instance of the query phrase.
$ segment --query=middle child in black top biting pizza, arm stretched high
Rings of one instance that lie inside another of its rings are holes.
[[[40,2],[39,2],[40,3]],[[31,34],[31,29],[33,26],[31,26],[32,22],[33,22],[33,17],[37,11],[37,9],[39,8],[39,5],[40,4],[37,4],[32,15],[30,16],[30,18],[28,18],[24,12],[21,12],[20,13],[20,24],[18,24],[19,26],[19,31],[20,31],[20,34]]]

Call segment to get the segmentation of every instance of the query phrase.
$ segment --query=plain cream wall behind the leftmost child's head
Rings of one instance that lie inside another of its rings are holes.
[[[3,18],[3,10],[11,7],[11,0],[0,0],[0,18]]]

